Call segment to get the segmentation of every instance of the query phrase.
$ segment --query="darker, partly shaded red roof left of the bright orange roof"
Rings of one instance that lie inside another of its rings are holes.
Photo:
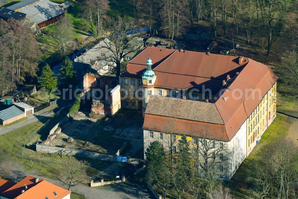
[[[38,180],[38,183],[40,183],[42,179]],[[21,195],[21,191],[25,190],[25,186],[27,185],[27,189],[30,189],[36,185],[35,183],[35,177],[28,175],[20,182],[16,183],[14,186],[10,187],[6,191],[4,191],[1,196],[5,198],[16,198],[19,195]]]

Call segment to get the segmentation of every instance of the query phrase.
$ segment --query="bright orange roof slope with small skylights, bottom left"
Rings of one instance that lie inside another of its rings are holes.
[[[57,194],[55,195],[54,192]],[[41,181],[31,189],[28,189],[21,195],[19,195],[16,199],[62,199],[65,196],[69,195],[71,191],[63,189],[60,186],[54,185],[46,180]]]

